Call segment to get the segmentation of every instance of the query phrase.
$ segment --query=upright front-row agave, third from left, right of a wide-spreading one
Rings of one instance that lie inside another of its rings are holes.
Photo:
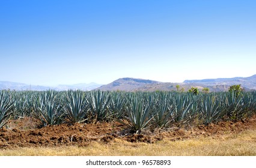
[[[87,119],[89,103],[84,92],[68,91],[64,102],[64,110],[72,124],[84,122]]]

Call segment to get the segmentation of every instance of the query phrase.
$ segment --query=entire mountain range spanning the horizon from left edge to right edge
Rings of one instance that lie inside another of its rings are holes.
[[[200,90],[203,88],[209,88],[210,92],[220,92],[228,91],[228,88],[231,85],[241,85],[245,91],[249,91],[256,90],[256,74],[250,77],[184,80],[182,83],[157,82],[155,80],[124,77],[107,85],[100,85],[97,83],[79,83],[75,85],[58,85],[55,87],[0,81],[0,90],[44,91],[47,89],[55,89],[56,91],[67,91],[69,89],[79,89],[82,91],[91,91],[93,89],[100,89],[102,91],[177,91],[177,85],[179,86],[178,89],[181,91],[187,91],[191,87],[196,87]]]

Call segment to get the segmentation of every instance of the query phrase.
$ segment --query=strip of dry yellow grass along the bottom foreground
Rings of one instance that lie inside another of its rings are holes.
[[[256,155],[256,130],[230,134],[218,139],[200,137],[171,142],[164,139],[154,144],[130,143],[116,139],[110,144],[92,142],[85,147],[61,146],[0,149],[0,155]]]

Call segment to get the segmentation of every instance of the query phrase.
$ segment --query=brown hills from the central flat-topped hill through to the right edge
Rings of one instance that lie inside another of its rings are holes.
[[[183,91],[196,87],[200,90],[209,88],[210,92],[221,92],[228,91],[231,85],[241,85],[245,91],[249,91],[250,89],[256,89],[256,75],[251,77],[185,80],[183,83],[157,82],[126,77],[115,80],[108,85],[100,86],[97,89],[103,91],[177,91],[177,85]]]

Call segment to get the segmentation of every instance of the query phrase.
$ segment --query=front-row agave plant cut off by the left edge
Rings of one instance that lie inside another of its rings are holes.
[[[0,128],[7,124],[12,106],[10,94],[7,91],[0,91]]]

